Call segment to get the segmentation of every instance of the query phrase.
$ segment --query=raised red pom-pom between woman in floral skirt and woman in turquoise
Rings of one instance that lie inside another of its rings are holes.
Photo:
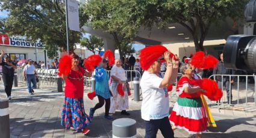
[[[91,55],[86,60],[84,60],[84,67],[88,71],[93,71],[96,66],[98,66],[102,61],[101,56]]]

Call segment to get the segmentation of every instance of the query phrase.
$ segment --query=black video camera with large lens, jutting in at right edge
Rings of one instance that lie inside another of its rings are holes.
[[[245,19],[246,22],[256,22],[256,0],[246,4]],[[256,71],[256,35],[230,35],[223,55],[228,69]]]

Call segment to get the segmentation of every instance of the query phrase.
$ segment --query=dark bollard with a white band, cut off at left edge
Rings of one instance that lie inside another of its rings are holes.
[[[1,138],[10,137],[9,101],[0,99],[0,134]]]

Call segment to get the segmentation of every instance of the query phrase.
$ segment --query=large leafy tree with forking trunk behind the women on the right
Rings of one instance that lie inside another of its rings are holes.
[[[192,34],[196,51],[204,50],[204,40],[209,28],[226,17],[243,18],[249,0],[113,0],[111,11],[119,19],[120,32],[136,35],[143,26],[151,29],[157,25],[166,28],[170,23],[180,23]],[[134,34],[135,33],[135,34]]]

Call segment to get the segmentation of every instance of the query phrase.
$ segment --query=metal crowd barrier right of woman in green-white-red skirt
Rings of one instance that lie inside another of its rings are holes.
[[[214,74],[209,77],[209,79],[216,80],[216,77],[221,77],[221,80],[219,83],[222,86],[222,92],[223,97],[221,98],[220,102],[217,103],[218,105],[225,105],[225,104],[231,104],[231,92],[233,95],[233,104],[239,104],[240,106],[256,106],[256,83],[248,84],[248,77],[255,80],[255,75],[220,75],[220,74]],[[231,84],[231,78],[233,77],[233,80],[235,80],[235,83]],[[242,78],[245,77],[245,78]],[[240,82],[240,80],[245,79],[245,82]],[[226,81],[229,84],[229,100],[226,99],[226,89],[223,81]],[[227,103],[229,101],[229,103]],[[208,101],[208,104],[216,103],[216,101]]]

